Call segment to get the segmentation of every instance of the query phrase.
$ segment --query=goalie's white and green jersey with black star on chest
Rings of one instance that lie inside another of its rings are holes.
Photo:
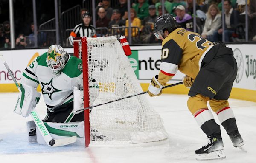
[[[21,84],[37,88],[41,86],[44,102],[49,111],[73,101],[73,87],[83,89],[82,61],[68,54],[68,61],[57,76],[47,66],[47,54],[38,56],[29,67],[23,70]]]

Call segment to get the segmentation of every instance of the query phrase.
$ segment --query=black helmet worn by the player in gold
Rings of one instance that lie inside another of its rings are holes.
[[[154,33],[160,32],[163,35],[165,30],[171,33],[175,29],[178,28],[178,23],[176,22],[176,18],[172,14],[163,14],[157,18],[154,23]]]

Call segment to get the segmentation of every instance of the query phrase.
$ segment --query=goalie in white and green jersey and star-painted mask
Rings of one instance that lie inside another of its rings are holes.
[[[84,113],[73,112],[74,87],[83,89],[81,60],[70,56],[61,46],[51,45],[25,70],[20,81],[20,95],[14,112],[27,117],[35,108],[36,91],[41,86],[47,106],[45,122],[83,121]]]

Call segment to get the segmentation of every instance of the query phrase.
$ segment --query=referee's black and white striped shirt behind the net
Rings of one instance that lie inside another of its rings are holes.
[[[73,31],[70,33],[70,36],[68,37],[68,40],[70,42],[70,45],[73,46],[74,38],[75,37],[94,37],[95,36],[95,28],[93,25],[85,26],[84,24],[80,23],[75,26]]]

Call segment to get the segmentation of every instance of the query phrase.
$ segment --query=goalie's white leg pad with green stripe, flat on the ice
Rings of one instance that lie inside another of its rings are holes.
[[[53,139],[76,136],[77,140],[72,143],[72,146],[84,146],[84,121],[70,123],[44,122],[44,124]],[[36,137],[38,144],[47,145],[38,129],[36,129]]]

